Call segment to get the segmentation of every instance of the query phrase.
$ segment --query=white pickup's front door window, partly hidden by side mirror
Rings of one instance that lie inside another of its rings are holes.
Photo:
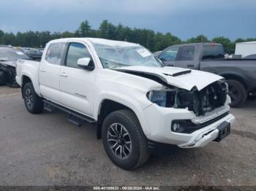
[[[77,42],[70,43],[67,52],[66,66],[80,69],[78,66],[78,59],[80,58],[91,58],[86,46]]]

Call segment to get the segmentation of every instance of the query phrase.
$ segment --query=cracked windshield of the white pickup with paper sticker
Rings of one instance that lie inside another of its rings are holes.
[[[162,63],[142,46],[108,46],[94,44],[102,66],[114,69],[121,66],[154,66],[162,67]]]

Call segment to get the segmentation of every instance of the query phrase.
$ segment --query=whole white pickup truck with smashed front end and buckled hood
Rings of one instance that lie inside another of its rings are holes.
[[[56,39],[41,62],[18,60],[16,73],[29,112],[54,106],[76,125],[93,122],[108,156],[124,169],[173,145],[220,141],[234,122],[225,79],[164,67],[140,44]]]

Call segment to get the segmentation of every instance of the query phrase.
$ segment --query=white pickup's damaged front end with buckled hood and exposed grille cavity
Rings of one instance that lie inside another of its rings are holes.
[[[146,94],[151,103],[164,108],[187,109],[192,112],[194,117],[186,121],[185,132],[189,128],[198,129],[202,124],[205,126],[204,123],[213,122],[229,113],[230,97],[227,95],[227,82],[215,74],[167,67],[159,71],[132,69],[132,67],[118,71],[159,82],[162,88],[149,90]]]

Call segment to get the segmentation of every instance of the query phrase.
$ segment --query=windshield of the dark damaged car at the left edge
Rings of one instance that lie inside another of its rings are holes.
[[[2,50],[0,51],[0,61],[15,61],[18,59],[30,59],[23,52],[16,50]]]

